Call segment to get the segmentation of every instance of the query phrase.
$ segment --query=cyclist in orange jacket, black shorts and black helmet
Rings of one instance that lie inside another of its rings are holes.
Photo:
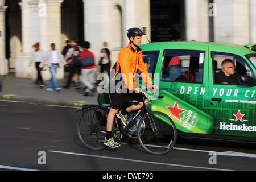
[[[108,118],[107,118],[107,126],[106,126],[106,138],[104,144],[111,148],[117,148],[120,144],[114,140],[112,136],[112,126],[114,122],[114,117],[117,114],[117,117],[121,119],[121,121],[126,125],[127,124],[127,115],[134,110],[139,110],[143,106],[143,94],[142,89],[138,88],[135,85],[135,73],[137,70],[141,72],[141,76],[148,87],[158,89],[158,86],[152,85],[152,81],[150,76],[148,75],[147,67],[143,61],[142,49],[139,48],[141,46],[142,36],[145,35],[141,29],[139,28],[130,28],[127,30],[127,36],[129,38],[128,46],[123,48],[121,52],[119,52],[117,63],[115,64],[115,76],[113,79],[113,85],[116,87],[121,85],[118,88],[115,88],[115,93],[112,98],[112,108],[110,108]],[[117,84],[118,73],[121,74],[123,84]],[[123,85],[123,88],[122,88]],[[138,105],[131,105],[126,109],[119,110],[123,98],[132,97],[135,100],[139,101]],[[148,101],[147,101],[148,103]]]

